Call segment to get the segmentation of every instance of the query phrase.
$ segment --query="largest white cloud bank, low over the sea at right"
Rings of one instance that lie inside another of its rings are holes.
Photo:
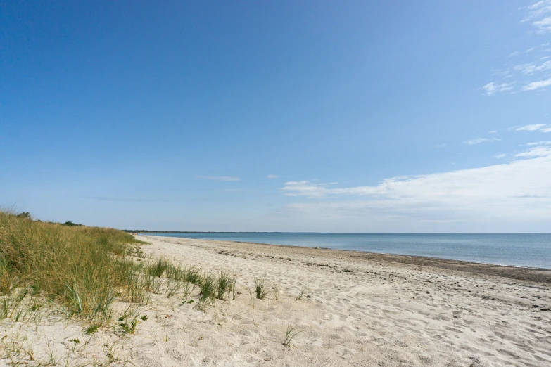
[[[291,181],[281,191],[285,195],[311,198],[295,202],[289,209],[306,214],[310,220],[315,217],[327,223],[343,219],[342,223],[367,226],[375,221],[392,228],[389,224],[436,220],[462,221],[467,226],[454,228],[473,228],[485,221],[494,224],[525,221],[549,228],[551,147],[541,148],[520,153],[516,160],[500,165],[394,177],[376,186],[334,188],[310,181]]]

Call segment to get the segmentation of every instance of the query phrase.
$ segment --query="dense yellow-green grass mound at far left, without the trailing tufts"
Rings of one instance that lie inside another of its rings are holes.
[[[27,288],[68,314],[108,317],[116,295],[129,292],[137,244],[110,228],[64,226],[0,212],[0,290]]]

